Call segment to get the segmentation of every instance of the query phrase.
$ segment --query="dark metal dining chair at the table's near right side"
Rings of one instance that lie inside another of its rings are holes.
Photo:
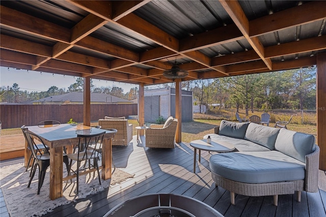
[[[87,171],[91,169],[97,170],[98,180],[101,184],[100,172],[98,169],[98,160],[99,160],[99,152],[96,150],[100,150],[102,148],[102,141],[104,137],[105,131],[97,134],[77,134],[77,138],[79,138],[78,148],[76,153],[68,154],[70,158],[69,170],[72,171],[77,176],[77,194],[79,192],[79,171]],[[93,147],[93,148],[91,148]],[[90,161],[93,159],[93,164],[90,164]],[[72,169],[72,162],[77,162],[76,170]],[[80,168],[81,161],[89,161],[88,167]],[[95,175],[95,171],[94,171]]]

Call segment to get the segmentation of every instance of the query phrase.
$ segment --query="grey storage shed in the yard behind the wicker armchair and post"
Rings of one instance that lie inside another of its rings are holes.
[[[159,116],[175,117],[175,89],[145,90],[145,122],[154,123]],[[182,122],[193,121],[193,92],[182,90]]]

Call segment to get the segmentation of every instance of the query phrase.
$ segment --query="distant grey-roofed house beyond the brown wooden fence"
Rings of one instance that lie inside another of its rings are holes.
[[[83,104],[82,92],[71,92],[63,95],[49,96],[33,101],[33,104]],[[104,93],[91,93],[91,104],[131,104],[132,101]]]

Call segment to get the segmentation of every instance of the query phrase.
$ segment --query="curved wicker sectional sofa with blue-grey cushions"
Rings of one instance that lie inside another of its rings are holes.
[[[319,148],[313,135],[255,123],[223,120],[214,128],[212,140],[226,141],[235,151],[214,154],[209,159],[216,186],[246,196],[294,194],[318,191]]]

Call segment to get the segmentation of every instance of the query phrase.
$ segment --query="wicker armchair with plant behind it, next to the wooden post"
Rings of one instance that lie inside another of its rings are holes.
[[[169,117],[165,124],[151,124],[146,130],[146,147],[174,148],[178,119]]]

